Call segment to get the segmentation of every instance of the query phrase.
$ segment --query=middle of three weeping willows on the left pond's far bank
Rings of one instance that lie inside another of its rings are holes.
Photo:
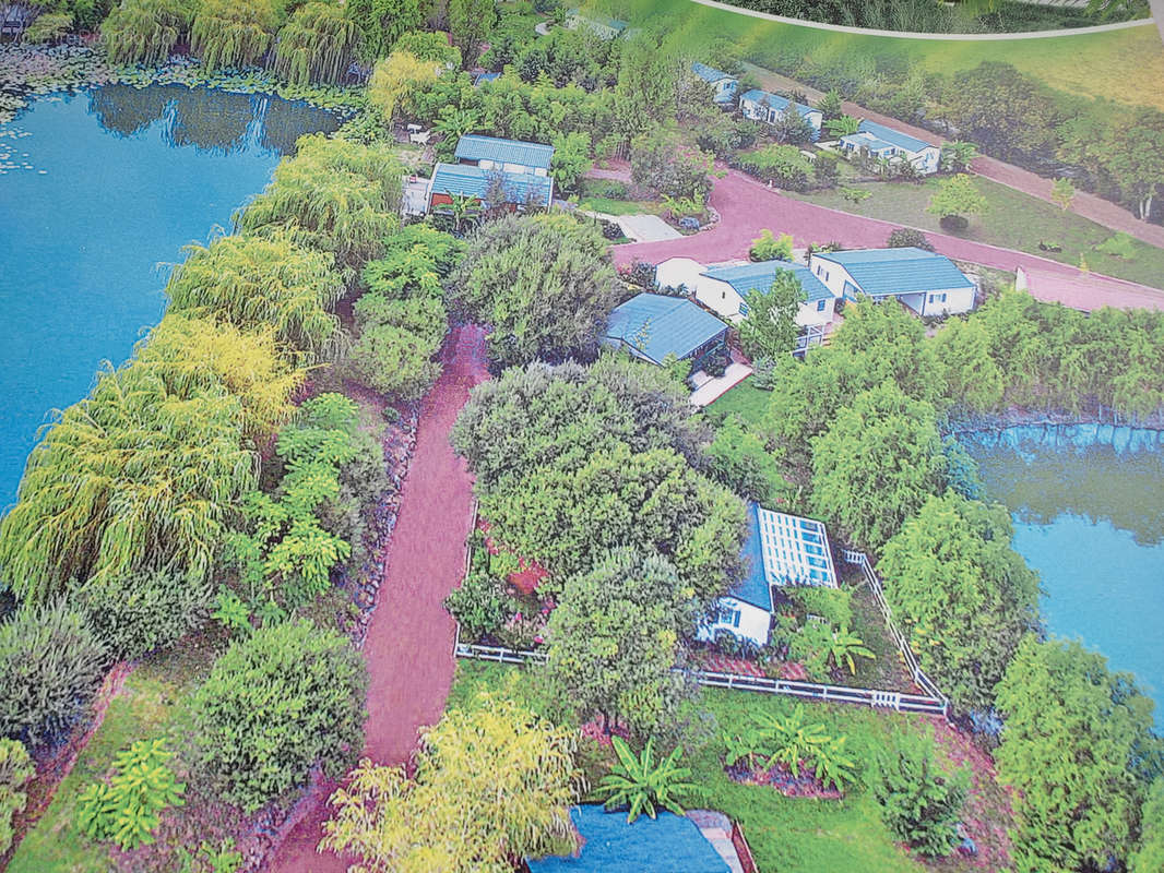
[[[271,47],[278,13],[271,0],[203,0],[190,30],[190,48],[213,72],[257,64]]]

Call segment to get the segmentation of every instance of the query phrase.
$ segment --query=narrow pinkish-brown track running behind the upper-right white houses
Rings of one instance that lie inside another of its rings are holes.
[[[745,68],[748,72],[754,73],[760,83],[767,88],[779,91],[800,91],[814,104],[824,95],[823,91],[809,87],[804,83],[796,81],[795,79],[772,72],[771,70],[765,70],[764,68],[755,66],[753,64],[745,64]],[[886,127],[892,127],[895,130],[901,130],[904,134],[916,136],[917,139],[925,140],[927,142],[937,142],[938,144],[945,142],[945,137],[938,136],[932,130],[927,130],[925,128],[916,127],[914,125],[907,125],[900,119],[882,115],[873,112],[872,109],[867,109],[864,106],[859,106],[858,104],[845,101],[842,104],[842,107],[847,115],[852,115],[853,118],[866,119],[878,125],[885,125]],[[971,169],[979,176],[991,179],[992,182],[996,182],[1000,185],[1006,185],[1007,187],[1021,191],[1024,194],[1037,197],[1039,200],[1045,200],[1046,203],[1055,203],[1051,199],[1051,185],[1053,184],[1051,179],[1044,179],[1042,176],[1034,173],[1030,170],[1023,170],[1021,166],[1015,166],[1014,164],[1008,164],[1005,161],[999,161],[995,157],[987,157],[986,155],[979,155],[974,158],[973,163],[971,163]],[[1110,228],[1112,230],[1122,230],[1129,236],[1134,236],[1142,242],[1147,242],[1149,246],[1164,248],[1164,227],[1141,221],[1119,204],[1105,200],[1102,197],[1088,194],[1086,191],[1079,191],[1071,201],[1071,212],[1077,215],[1081,215],[1085,219],[1090,219],[1096,225]]]

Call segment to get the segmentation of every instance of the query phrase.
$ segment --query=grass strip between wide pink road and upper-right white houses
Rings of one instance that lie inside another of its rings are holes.
[[[939,184],[939,179],[934,178],[927,179],[921,185],[910,182],[861,183],[859,187],[872,191],[873,196],[857,206],[845,201],[836,189],[807,194],[792,191],[783,193],[842,212],[910,225],[936,233],[949,233],[942,229],[937,215],[925,211]],[[1131,260],[1101,254],[1095,251],[1095,246],[1115,235],[1102,225],[1074,213],[1064,213],[1053,204],[989,179],[975,177],[974,184],[986,197],[988,208],[985,214],[971,218],[966,230],[951,235],[1017,249],[1072,265],[1078,265],[1083,255],[1087,265],[1095,272],[1152,288],[1164,288],[1164,249],[1137,240],[1133,243]],[[1041,241],[1057,243],[1062,246],[1063,251],[1058,254],[1041,251],[1038,248]]]

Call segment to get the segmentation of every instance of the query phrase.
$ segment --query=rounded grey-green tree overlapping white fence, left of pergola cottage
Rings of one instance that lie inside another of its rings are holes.
[[[675,568],[616,549],[562,583],[549,616],[547,677],[582,721],[595,712],[639,736],[670,725],[681,681],[672,673],[694,610]]]

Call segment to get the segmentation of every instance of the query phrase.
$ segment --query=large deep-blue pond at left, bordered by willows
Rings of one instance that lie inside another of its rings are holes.
[[[0,513],[52,409],[162,317],[182,247],[263,189],[332,113],[265,95],[108,85],[0,125]]]

